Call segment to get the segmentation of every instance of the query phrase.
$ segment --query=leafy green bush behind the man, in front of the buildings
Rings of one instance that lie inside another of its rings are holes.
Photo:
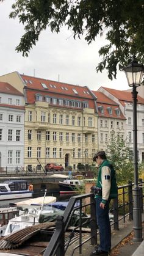
[[[134,181],[134,165],[131,159],[131,148],[121,136],[112,133],[106,148],[106,155],[112,163],[119,184]]]

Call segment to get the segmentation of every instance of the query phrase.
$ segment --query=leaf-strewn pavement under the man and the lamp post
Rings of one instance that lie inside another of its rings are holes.
[[[144,214],[142,214],[143,222],[143,239],[144,239]],[[112,250],[110,256],[143,256],[144,255],[144,240],[135,242],[133,240],[133,221],[128,219],[123,223],[121,220],[119,230],[113,230],[112,227]],[[87,237],[85,239],[88,238]],[[99,242],[99,241],[98,241]],[[82,245],[82,254],[79,254],[79,248],[74,250],[78,243],[72,244],[66,252],[66,256],[89,256],[92,251],[95,251],[95,246],[90,244],[90,241]]]

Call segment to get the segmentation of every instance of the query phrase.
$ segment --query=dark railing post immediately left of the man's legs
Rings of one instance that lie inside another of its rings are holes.
[[[96,224],[96,200],[95,195],[92,194],[90,197],[90,232],[91,232],[91,244],[97,244],[97,224]]]

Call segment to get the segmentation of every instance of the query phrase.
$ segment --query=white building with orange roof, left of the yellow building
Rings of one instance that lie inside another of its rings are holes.
[[[0,169],[24,166],[24,95],[0,82]]]

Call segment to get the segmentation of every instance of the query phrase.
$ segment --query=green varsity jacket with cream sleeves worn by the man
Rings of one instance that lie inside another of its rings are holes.
[[[115,170],[112,164],[108,160],[104,159],[101,166],[99,166],[98,172],[98,188],[102,188],[102,203],[107,202],[107,200],[116,198],[118,196],[118,187],[116,183]],[[95,198],[101,197],[96,195]]]

